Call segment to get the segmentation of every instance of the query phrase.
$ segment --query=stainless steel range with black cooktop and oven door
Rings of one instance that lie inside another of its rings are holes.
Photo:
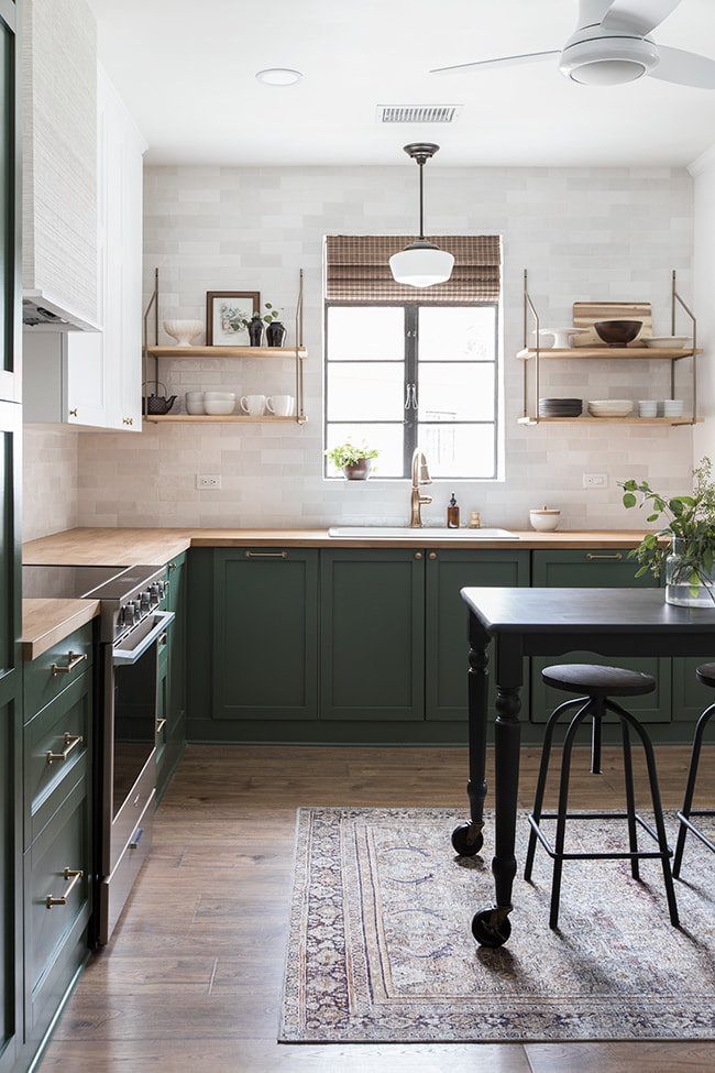
[[[109,941],[152,841],[156,786],[158,648],[173,612],[163,610],[164,568],[22,568],[24,596],[100,603],[96,688],[96,846],[92,938]]]

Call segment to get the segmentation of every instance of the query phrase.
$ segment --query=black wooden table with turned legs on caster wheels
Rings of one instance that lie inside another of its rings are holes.
[[[627,656],[715,658],[715,603],[681,607],[666,603],[663,589],[462,589],[469,609],[469,823],[452,834],[458,853],[473,855],[483,845],[486,797],[487,686],[490,665],[496,682],[494,726],[495,902],[472,921],[483,946],[509,938],[512,887],[516,875],[515,834],[519,781],[525,656],[561,656],[585,650]],[[493,650],[490,652],[490,646]],[[614,661],[614,660],[612,660]]]

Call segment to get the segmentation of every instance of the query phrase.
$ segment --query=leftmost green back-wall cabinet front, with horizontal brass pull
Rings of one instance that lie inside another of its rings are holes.
[[[316,720],[318,551],[220,549],[212,584],[213,719]]]

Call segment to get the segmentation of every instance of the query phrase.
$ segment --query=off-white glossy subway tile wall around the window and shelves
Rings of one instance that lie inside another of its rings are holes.
[[[323,527],[402,524],[408,482],[327,482],[322,478],[321,254],[326,233],[411,233],[415,176],[406,167],[237,168],[152,166],[145,171],[145,300],[160,270],[161,328],[168,318],[204,319],[208,291],[260,291],[284,310],[295,342],[299,270],[305,274],[305,409],[308,424],[145,426],[141,435],[78,436],[74,511],[55,510],[58,482],[72,483],[75,457],[47,463],[58,434],[26,437],[25,535],[77,525]],[[574,300],[646,300],[653,332],[670,333],[671,271],[689,304],[693,291],[693,179],[680,168],[451,168],[430,173],[435,233],[504,237],[505,470],[497,482],[459,482],[463,518],[528,528],[530,507],[558,506],[561,528],[635,528],[617,482],[646,478],[682,491],[693,431],[676,428],[517,423],[522,410],[522,273],[548,325],[571,322]],[[200,337],[197,342],[202,342]],[[683,363],[684,364],[684,363]],[[648,371],[646,371],[646,369]],[[669,363],[542,363],[540,394],[663,397]],[[237,394],[294,394],[290,362],[226,359],[162,361],[160,376],[179,397],[201,387]],[[647,390],[646,390],[647,388]],[[686,388],[678,392],[688,398]],[[67,434],[69,435],[69,434]],[[41,461],[41,459],[43,461]],[[583,473],[608,475],[584,490]],[[196,475],[221,474],[221,489],[197,491]],[[443,524],[454,482],[439,482],[426,524]]]

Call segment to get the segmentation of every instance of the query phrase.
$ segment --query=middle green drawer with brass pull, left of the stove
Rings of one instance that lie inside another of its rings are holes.
[[[82,675],[24,727],[25,845],[57,811],[68,780],[89,770],[91,692]]]

